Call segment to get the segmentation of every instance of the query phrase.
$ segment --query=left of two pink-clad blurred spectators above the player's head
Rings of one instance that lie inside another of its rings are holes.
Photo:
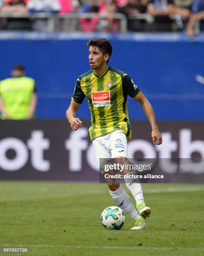
[[[98,11],[99,7],[96,0],[90,0],[89,4],[82,5],[83,13],[98,13]],[[99,22],[99,18],[81,18],[80,22],[82,26],[82,31],[94,32],[96,30],[96,25]]]

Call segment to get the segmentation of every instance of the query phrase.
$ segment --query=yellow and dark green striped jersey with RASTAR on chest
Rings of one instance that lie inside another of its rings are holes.
[[[127,96],[133,98],[139,91],[128,74],[113,67],[107,67],[101,76],[90,70],[77,79],[72,100],[81,104],[85,97],[88,99],[91,140],[116,130],[131,138]]]

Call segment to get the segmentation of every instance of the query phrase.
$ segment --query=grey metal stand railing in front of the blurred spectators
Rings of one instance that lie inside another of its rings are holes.
[[[102,21],[106,19],[106,16],[99,13],[0,13],[0,31],[82,32],[80,18],[99,18]],[[169,23],[156,23],[149,13],[138,13],[127,17],[122,13],[115,13],[115,20],[119,23],[117,31],[119,33],[127,31],[177,32],[185,31],[187,26],[187,23],[184,23],[179,29],[175,15],[169,16]],[[194,30],[200,33],[198,22]],[[95,32],[108,31],[96,27]]]

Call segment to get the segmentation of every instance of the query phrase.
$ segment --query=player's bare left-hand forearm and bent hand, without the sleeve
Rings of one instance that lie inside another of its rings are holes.
[[[70,123],[72,130],[74,131],[82,127],[82,121],[79,118],[75,118],[75,114],[79,106],[79,103],[75,102],[74,100],[71,100],[70,106],[66,111],[67,119]]]

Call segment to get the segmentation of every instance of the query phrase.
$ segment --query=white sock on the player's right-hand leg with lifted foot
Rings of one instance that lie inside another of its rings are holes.
[[[130,172],[129,174],[133,174],[134,172]],[[135,174],[135,173],[134,173]],[[127,188],[132,193],[135,201],[137,204],[140,204],[141,202],[144,202],[143,192],[142,192],[142,186],[139,182],[139,179],[133,179],[132,182],[130,182],[130,179],[125,179],[125,184]],[[137,183],[135,183],[137,182]]]

